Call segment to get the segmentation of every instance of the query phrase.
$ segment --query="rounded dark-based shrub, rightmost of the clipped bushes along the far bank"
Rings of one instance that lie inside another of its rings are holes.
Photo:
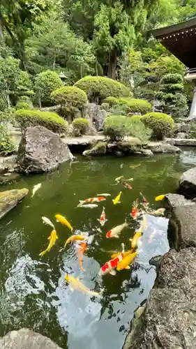
[[[163,140],[164,136],[172,130],[174,120],[162,112],[149,112],[142,117],[144,124],[153,131],[152,137]]]

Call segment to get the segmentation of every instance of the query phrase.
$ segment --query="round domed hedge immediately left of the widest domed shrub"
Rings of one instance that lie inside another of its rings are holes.
[[[82,109],[87,103],[87,96],[82,89],[74,86],[63,86],[55,89],[51,94],[52,100],[56,104]]]

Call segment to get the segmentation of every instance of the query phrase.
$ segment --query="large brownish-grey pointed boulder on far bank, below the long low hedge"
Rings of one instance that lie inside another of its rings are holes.
[[[22,135],[17,155],[20,172],[49,172],[72,159],[68,146],[45,127],[28,127]]]

